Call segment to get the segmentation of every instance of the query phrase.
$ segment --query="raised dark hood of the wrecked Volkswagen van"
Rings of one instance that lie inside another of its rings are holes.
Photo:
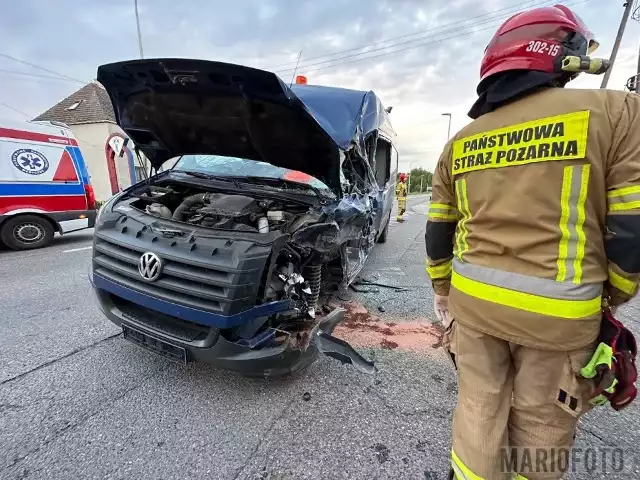
[[[340,147],[274,73],[191,59],[98,67],[116,121],[154,168],[178,155],[265,161],[340,187]]]

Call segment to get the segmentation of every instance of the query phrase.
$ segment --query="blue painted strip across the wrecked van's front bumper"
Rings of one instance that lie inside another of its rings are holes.
[[[266,303],[253,307],[244,312],[236,313],[235,315],[225,316],[218,315],[216,313],[206,312],[192,307],[186,307],[167,300],[161,300],[151,295],[136,292],[130,288],[123,287],[111,280],[93,274],[93,285],[96,288],[105,290],[113,295],[129,300],[130,302],[140,305],[142,307],[150,308],[157,312],[172,315],[174,317],[186,320],[187,322],[194,322],[200,325],[217,328],[232,328],[243,323],[253,320],[256,317],[264,317],[273,315],[274,313],[284,312],[291,308],[291,302],[288,300],[282,300],[279,302]]]

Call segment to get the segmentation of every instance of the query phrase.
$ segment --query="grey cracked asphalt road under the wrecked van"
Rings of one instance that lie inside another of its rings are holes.
[[[337,333],[375,376],[329,358],[284,380],[175,365],[99,313],[91,232],[0,251],[0,478],[445,479],[456,382],[431,325],[424,201],[371,256],[363,278],[380,285],[343,299],[360,320]],[[625,473],[567,478],[639,478],[638,406],[589,415],[577,447],[603,444],[625,449]]]

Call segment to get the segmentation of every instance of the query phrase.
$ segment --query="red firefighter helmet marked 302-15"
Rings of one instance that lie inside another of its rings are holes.
[[[564,5],[517,13],[500,26],[485,49],[480,81],[509,70],[558,73],[565,57],[587,56],[598,46],[580,17]]]

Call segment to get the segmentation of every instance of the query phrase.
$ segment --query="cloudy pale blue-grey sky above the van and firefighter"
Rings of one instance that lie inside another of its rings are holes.
[[[95,78],[139,58],[134,0],[2,0],[0,119],[26,121]],[[297,74],[310,84],[373,90],[398,134],[400,171],[433,170],[469,123],[485,46],[502,21],[536,6],[571,7],[609,57],[623,0],[138,0],[145,58],[225,61]],[[629,20],[608,88],[637,68],[640,22]],[[8,58],[13,57],[13,59]],[[16,61],[18,59],[22,62]],[[27,65],[28,64],[31,65]],[[599,88],[582,75],[573,88]]]

